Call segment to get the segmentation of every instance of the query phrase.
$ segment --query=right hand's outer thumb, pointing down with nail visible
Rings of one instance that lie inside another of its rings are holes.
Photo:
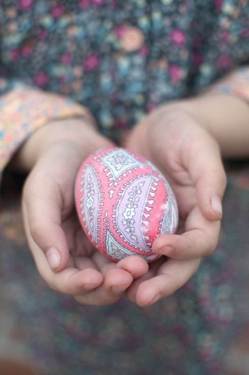
[[[203,141],[201,142],[200,139]],[[189,156],[184,159],[185,167],[196,185],[196,197],[203,214],[209,220],[221,220],[222,198],[227,178],[220,149],[208,134],[198,138],[198,141],[189,152]]]

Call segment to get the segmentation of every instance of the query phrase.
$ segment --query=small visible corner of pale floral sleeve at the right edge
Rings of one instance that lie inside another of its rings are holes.
[[[224,93],[249,103],[249,66],[238,68],[210,86],[206,93]]]

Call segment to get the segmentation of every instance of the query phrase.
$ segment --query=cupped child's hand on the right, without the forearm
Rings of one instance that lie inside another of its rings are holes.
[[[197,271],[217,244],[226,186],[219,145],[177,104],[163,106],[139,123],[125,145],[159,167],[176,195],[182,234],[162,235],[153,251],[167,256],[150,264],[127,295],[140,306],[165,298]]]

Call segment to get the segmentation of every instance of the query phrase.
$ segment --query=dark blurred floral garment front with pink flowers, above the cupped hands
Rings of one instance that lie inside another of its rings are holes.
[[[1,73],[88,107],[118,140],[249,56],[247,0],[2,0]]]

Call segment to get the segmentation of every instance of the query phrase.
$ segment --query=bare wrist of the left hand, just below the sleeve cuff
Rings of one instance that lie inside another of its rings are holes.
[[[83,117],[54,120],[37,130],[23,143],[14,155],[10,167],[28,172],[51,147],[65,143],[84,149],[85,154],[105,147],[105,143],[109,145],[109,141]]]

